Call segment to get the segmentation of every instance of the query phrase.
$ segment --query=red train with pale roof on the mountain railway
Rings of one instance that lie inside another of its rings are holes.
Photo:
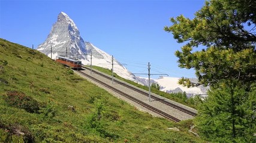
[[[58,63],[64,64],[65,66],[71,67],[72,69],[82,69],[82,61],[79,60],[57,55],[56,61]]]

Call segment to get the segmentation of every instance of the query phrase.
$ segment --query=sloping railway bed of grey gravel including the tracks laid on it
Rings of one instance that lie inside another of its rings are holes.
[[[127,101],[131,105],[134,105],[139,110],[150,113],[153,116],[164,117],[163,115],[157,113],[156,111],[152,111],[149,108],[146,108],[141,104],[138,104],[138,102],[132,101],[130,98],[127,98],[124,95],[116,92],[115,90],[104,86],[103,83],[110,86],[111,88],[115,88],[119,91],[122,91],[125,94],[131,96],[132,98],[135,98],[143,102],[144,104],[150,105],[151,107],[156,108],[157,110],[160,110],[165,114],[173,116],[178,120],[193,119],[194,116],[196,116],[197,114],[197,110],[193,108],[187,107],[175,101],[168,100],[167,98],[161,97],[156,94],[152,94],[151,101],[149,101],[149,95],[147,91],[144,91],[143,89],[139,89],[133,85],[130,85],[129,83],[125,83],[124,81],[116,79],[115,77],[112,80],[111,76],[104,74],[100,71],[93,70],[91,72],[91,70],[89,70],[88,68],[85,68],[85,70],[75,71],[75,72],[80,74],[80,76],[83,76],[86,79],[90,80],[91,82],[94,82],[96,85],[100,86],[101,88],[106,89],[116,97],[121,98],[124,101]],[[85,74],[87,74],[88,76],[85,76]],[[91,76],[91,78],[89,76]],[[103,83],[99,83],[95,81],[93,78],[100,80]]]

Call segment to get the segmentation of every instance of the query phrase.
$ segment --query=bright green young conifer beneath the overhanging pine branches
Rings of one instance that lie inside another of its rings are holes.
[[[224,80],[211,88],[195,120],[201,135],[212,142],[256,141],[256,86],[246,91],[239,80]]]

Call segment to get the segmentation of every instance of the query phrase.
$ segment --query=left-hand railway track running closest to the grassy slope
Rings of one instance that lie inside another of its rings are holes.
[[[142,102],[142,101],[140,101],[140,100],[138,100],[138,99],[136,99],[136,98],[134,98],[134,97],[132,97],[132,96],[130,96],[128,94],[126,94],[125,92],[122,92],[119,89],[116,89],[113,86],[110,86],[107,83],[104,83],[101,80],[96,79],[95,77],[92,77],[92,76],[90,76],[90,75],[88,75],[86,73],[83,73],[82,71],[79,71],[79,70],[77,72],[82,74],[83,76],[89,77],[90,79],[94,80],[95,82],[100,83],[101,85],[105,86],[106,88],[109,88],[112,91],[115,91],[118,94],[121,94],[122,96],[128,98],[129,100],[132,100],[132,101],[136,102],[137,104],[140,104],[141,106],[143,106],[143,107],[145,107],[145,108],[147,108],[147,109],[149,109],[149,110],[151,110],[151,111],[153,111],[153,112],[155,112],[155,113],[165,117],[166,119],[172,120],[174,122],[180,122],[180,120],[177,119],[176,117],[173,117],[170,114],[164,113],[163,111],[158,110],[157,108],[152,107],[151,105],[148,105],[148,104],[146,104],[146,103],[144,103],[144,102]]]

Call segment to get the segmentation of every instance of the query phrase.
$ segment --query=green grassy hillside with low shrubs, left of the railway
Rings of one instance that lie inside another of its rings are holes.
[[[0,142],[204,142],[189,126],[141,113],[46,55],[0,39]]]

